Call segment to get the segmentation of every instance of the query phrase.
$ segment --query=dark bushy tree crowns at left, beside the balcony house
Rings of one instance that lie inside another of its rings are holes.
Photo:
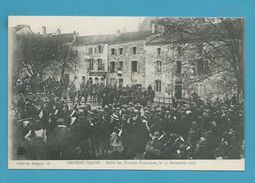
[[[13,65],[25,69],[34,78],[42,79],[44,71],[58,72],[63,78],[66,70],[78,64],[72,42],[66,42],[61,35],[19,35],[15,44]]]

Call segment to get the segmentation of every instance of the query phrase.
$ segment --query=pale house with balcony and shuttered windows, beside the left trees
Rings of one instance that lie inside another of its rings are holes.
[[[106,82],[108,75],[108,43],[111,35],[80,36],[74,44],[78,51],[79,65],[75,76],[80,83],[82,80]]]

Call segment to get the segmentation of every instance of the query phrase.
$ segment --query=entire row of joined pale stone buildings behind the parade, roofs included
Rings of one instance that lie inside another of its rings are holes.
[[[157,20],[145,18],[137,32],[78,37],[79,81],[151,85],[157,97],[167,98],[186,97],[194,91],[202,97],[224,93],[218,87],[223,72],[202,58],[204,43],[182,31],[166,36]]]

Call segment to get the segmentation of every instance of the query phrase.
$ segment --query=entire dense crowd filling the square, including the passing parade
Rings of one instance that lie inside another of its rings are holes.
[[[69,96],[19,91],[12,109],[18,159],[243,157],[244,106],[236,96],[211,101],[193,92],[160,106],[151,86],[73,85]]]

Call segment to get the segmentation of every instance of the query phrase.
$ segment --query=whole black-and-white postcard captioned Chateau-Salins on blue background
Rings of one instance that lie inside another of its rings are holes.
[[[244,170],[244,19],[9,17],[9,168]]]

